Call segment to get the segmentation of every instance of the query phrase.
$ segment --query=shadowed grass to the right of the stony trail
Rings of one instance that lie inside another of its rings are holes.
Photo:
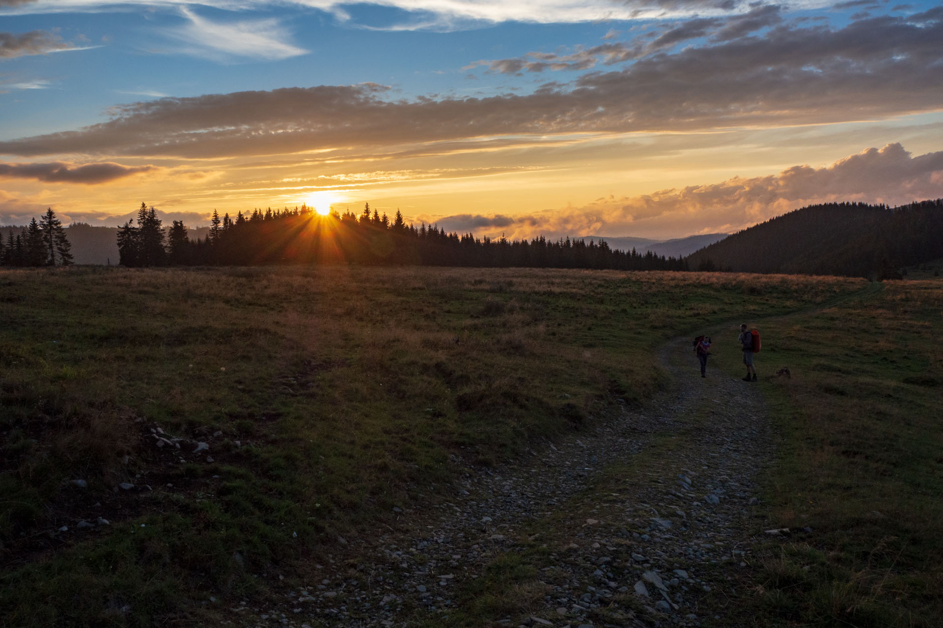
[[[941,312],[935,279],[759,321],[784,440],[769,524],[793,533],[766,550],[755,625],[940,625]],[[791,378],[772,375],[785,366]]]

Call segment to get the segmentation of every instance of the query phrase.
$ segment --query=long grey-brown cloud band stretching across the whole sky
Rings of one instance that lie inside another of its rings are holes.
[[[375,84],[242,91],[122,105],[77,131],[0,141],[0,154],[212,157],[475,137],[713,131],[863,121],[943,107],[943,16],[832,31],[776,26],[589,72],[526,95],[387,100]],[[604,44],[605,45],[605,44]]]

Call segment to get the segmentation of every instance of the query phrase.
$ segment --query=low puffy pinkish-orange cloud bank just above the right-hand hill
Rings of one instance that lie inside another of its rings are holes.
[[[474,217],[473,224],[478,233],[505,232],[508,237],[538,233],[552,237],[598,233],[659,235],[672,233],[679,223],[692,232],[729,232],[819,202],[899,205],[940,197],[943,197],[943,151],[914,157],[901,144],[892,143],[821,168],[794,166],[769,176],[734,177],[718,184],[689,185],[637,197],[608,196],[587,205],[514,217],[510,224],[502,216],[494,217],[500,221],[495,225],[488,224],[488,217]],[[438,219],[441,225],[451,225],[453,221],[465,230],[472,228],[467,215]],[[493,226],[500,229],[489,228]]]

